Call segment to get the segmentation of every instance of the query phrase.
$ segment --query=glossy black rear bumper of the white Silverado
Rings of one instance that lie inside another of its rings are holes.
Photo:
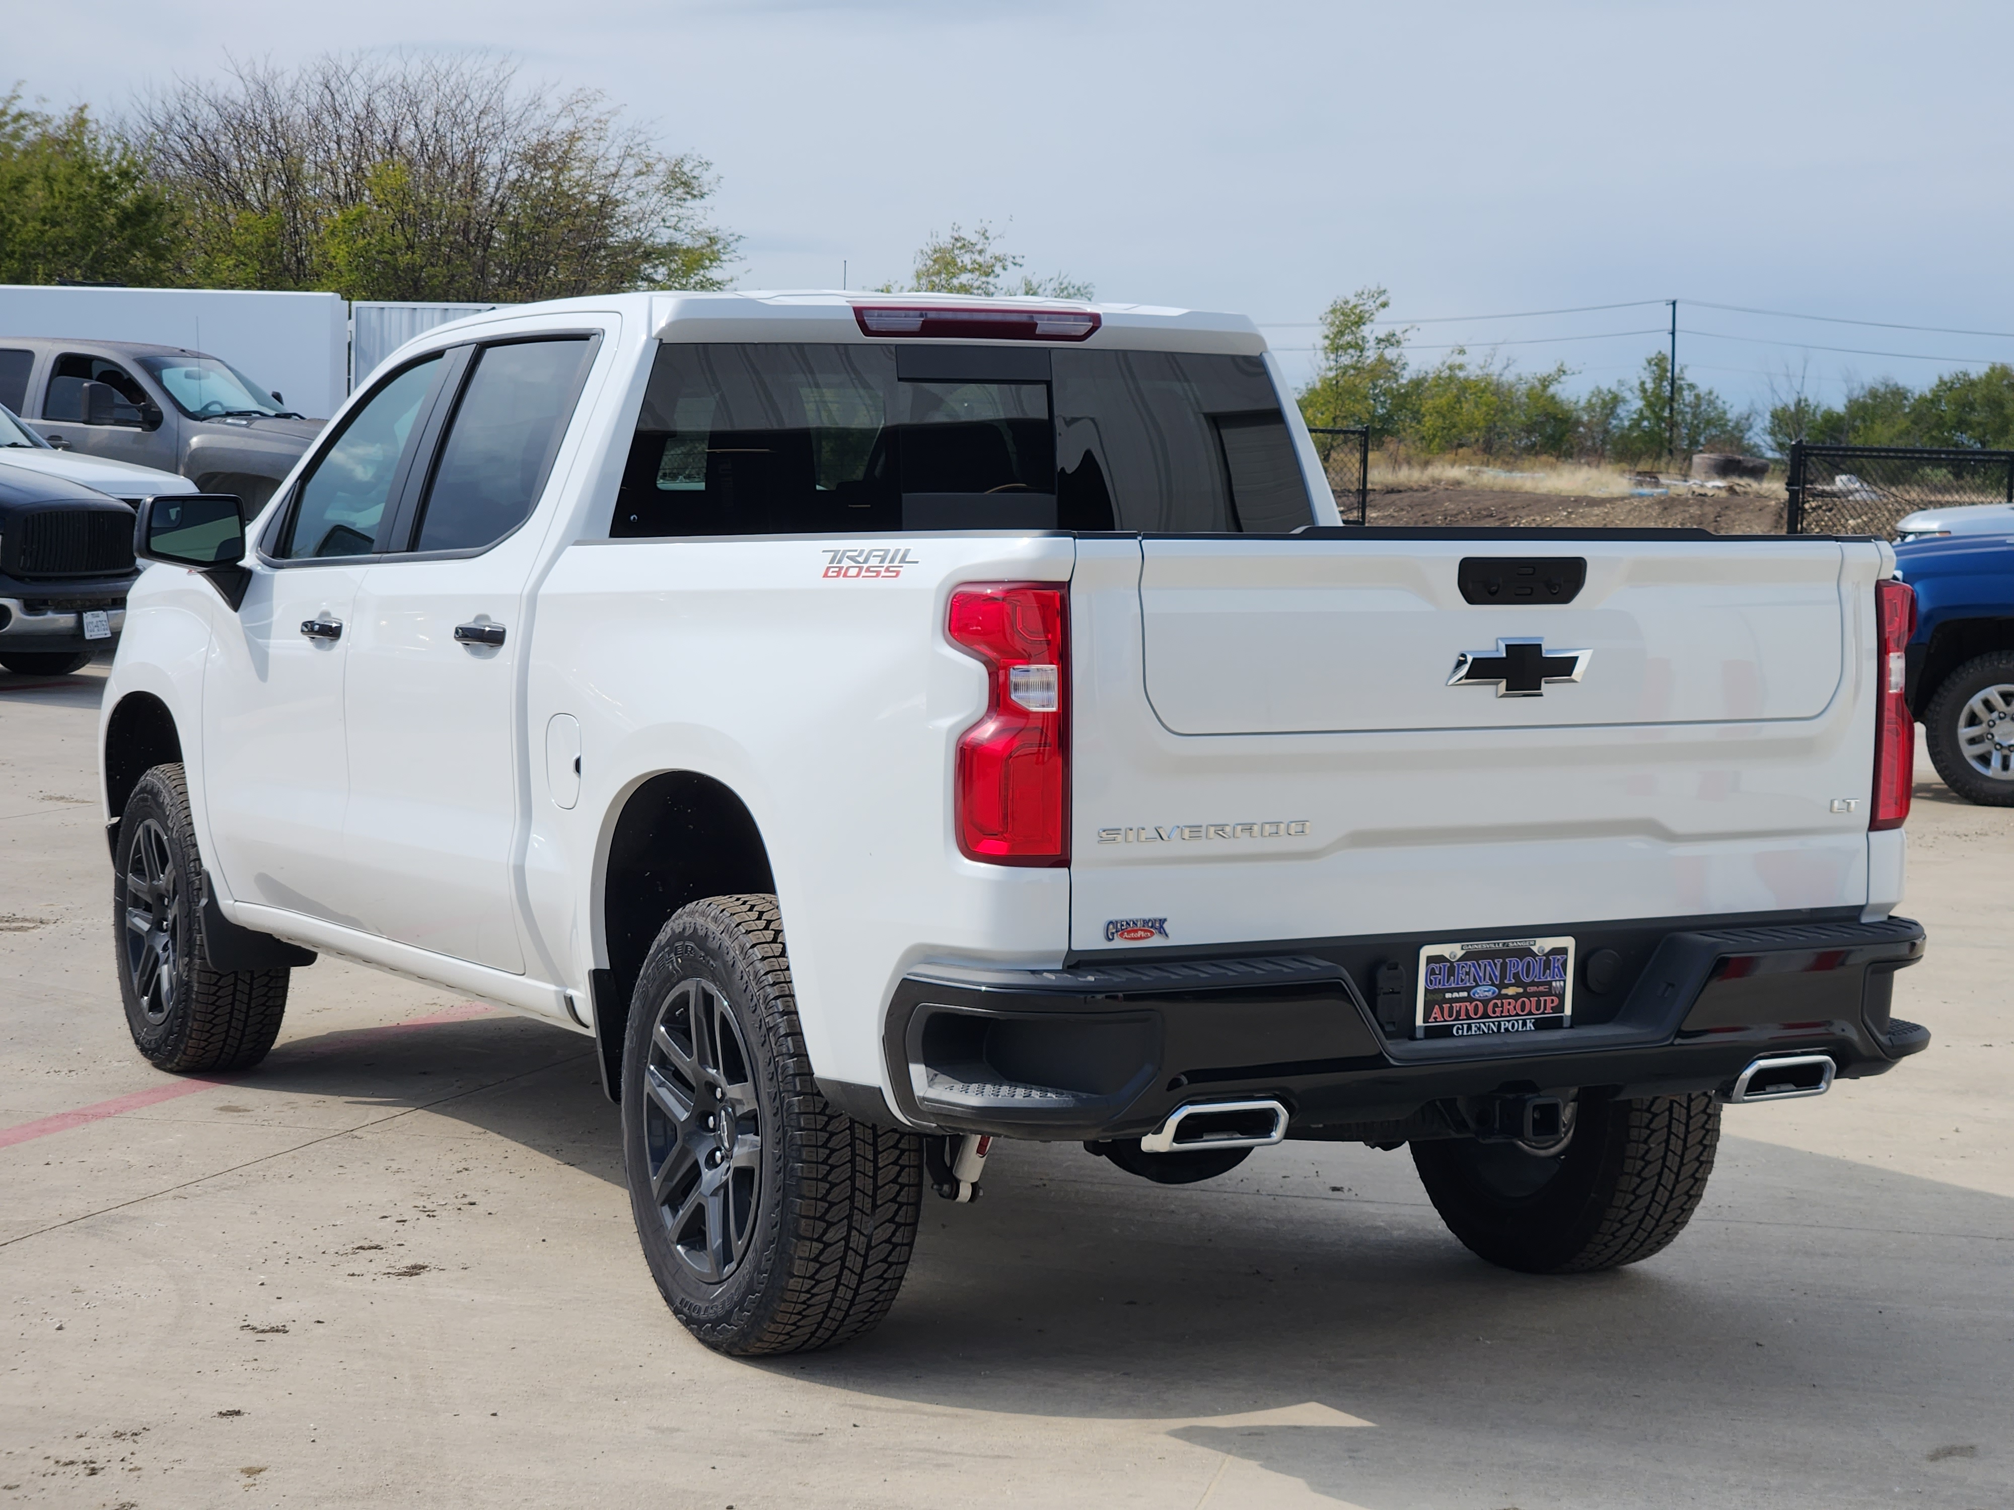
[[[1895,970],[1923,954],[1921,924],[1708,922],[1484,934],[1571,932],[1583,968],[1613,950],[1609,989],[1583,978],[1575,1025],[1549,1033],[1414,1039],[1418,944],[1349,940],[916,972],[896,987],[884,1051],[902,1117],[945,1131],[1138,1138],[1188,1101],[1273,1097],[1291,1113],[1289,1136],[1396,1142],[1430,1121],[1434,1103],[1460,1097],[1587,1085],[1726,1095],[1758,1057],[1823,1053],[1857,1077],[1929,1045],[1925,1029],[1889,1013]],[[1370,997],[1359,980],[1374,983]]]

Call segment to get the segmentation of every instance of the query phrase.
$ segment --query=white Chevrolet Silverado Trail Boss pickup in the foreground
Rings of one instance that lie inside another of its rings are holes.
[[[246,521],[141,507],[127,1021],[312,950],[592,1035],[733,1353],[890,1307],[991,1140],[1410,1146],[1513,1268],[1658,1252],[1720,1105],[1873,1075],[1911,596],[1873,540],[1365,530],[1251,322],[630,294],[429,330]]]

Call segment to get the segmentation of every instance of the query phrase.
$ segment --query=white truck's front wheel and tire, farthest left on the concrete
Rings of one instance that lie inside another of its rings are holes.
[[[141,846],[149,854],[135,854]],[[155,765],[119,817],[113,948],[133,1047],[155,1069],[181,1075],[250,1069],[286,1017],[288,970],[209,968],[201,898],[187,783],[179,765]],[[151,924],[145,932],[141,914]]]

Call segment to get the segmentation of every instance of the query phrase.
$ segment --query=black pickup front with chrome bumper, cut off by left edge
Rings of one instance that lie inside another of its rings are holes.
[[[133,509],[60,477],[0,475],[0,666],[64,676],[125,628]]]

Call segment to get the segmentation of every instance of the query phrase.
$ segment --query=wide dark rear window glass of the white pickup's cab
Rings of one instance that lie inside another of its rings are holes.
[[[1281,532],[1311,517],[1255,356],[665,344],[610,534]]]

